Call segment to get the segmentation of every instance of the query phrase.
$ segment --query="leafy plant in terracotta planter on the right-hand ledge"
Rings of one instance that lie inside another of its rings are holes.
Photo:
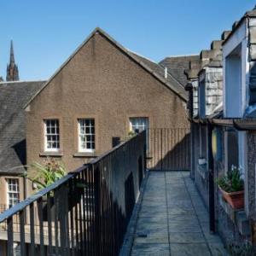
[[[241,177],[241,169],[232,166],[226,175],[217,178],[218,189],[222,193],[224,200],[233,209],[244,207],[244,182]]]

